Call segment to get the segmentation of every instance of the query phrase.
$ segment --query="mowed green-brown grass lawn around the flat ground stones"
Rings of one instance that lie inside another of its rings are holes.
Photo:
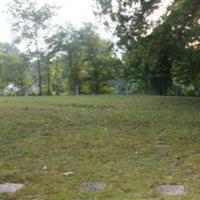
[[[0,97],[1,183],[25,185],[1,200],[199,200],[200,98]]]

